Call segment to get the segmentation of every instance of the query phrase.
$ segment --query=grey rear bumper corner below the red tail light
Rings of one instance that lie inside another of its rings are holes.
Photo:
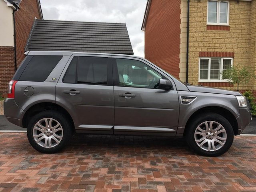
[[[9,122],[22,127],[24,111],[16,104],[14,99],[6,98],[4,100],[4,115]]]

